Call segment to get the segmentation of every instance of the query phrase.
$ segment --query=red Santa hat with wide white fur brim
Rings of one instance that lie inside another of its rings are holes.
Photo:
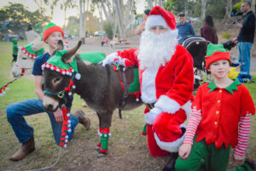
[[[145,29],[149,30],[152,26],[164,26],[175,30],[176,21],[174,15],[165,9],[155,6],[149,13]]]

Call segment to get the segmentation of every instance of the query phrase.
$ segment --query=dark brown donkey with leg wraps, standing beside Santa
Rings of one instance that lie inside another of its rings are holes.
[[[99,157],[104,157],[108,151],[109,128],[112,122],[113,111],[119,107],[119,102],[124,97],[124,90],[119,81],[118,74],[113,70],[113,66],[84,65],[84,62],[79,58],[79,54],[74,55],[80,45],[81,41],[79,41],[76,47],[63,54],[61,60],[69,65],[73,60],[76,61],[81,77],[79,80],[73,79],[74,93],[79,94],[86,104],[96,111],[99,118],[98,134],[101,136],[101,140],[97,145],[98,155]],[[52,58],[55,58],[55,56]],[[60,92],[63,94],[64,89],[70,87],[70,80],[72,79],[70,75],[63,75],[59,71],[53,71],[51,66],[44,67],[45,91],[43,104],[45,110],[55,111],[59,105],[64,103],[65,100],[60,98]],[[46,94],[46,92],[48,93]],[[67,92],[64,94],[65,96],[68,95]],[[142,101],[137,101],[134,95],[129,94],[122,109],[131,110],[139,105],[142,105]]]

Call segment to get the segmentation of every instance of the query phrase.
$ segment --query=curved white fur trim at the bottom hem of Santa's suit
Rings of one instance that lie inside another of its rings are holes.
[[[180,126],[180,128],[186,128],[186,125],[182,124]],[[155,139],[157,145],[159,145],[162,150],[169,151],[169,152],[177,152],[179,146],[183,144],[184,138],[185,138],[185,133],[183,134],[183,136],[181,138],[179,138],[175,141],[163,142],[158,138],[157,134],[154,133],[154,139]]]

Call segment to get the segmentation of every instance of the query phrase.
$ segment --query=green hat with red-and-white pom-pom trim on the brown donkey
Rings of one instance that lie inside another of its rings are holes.
[[[62,55],[66,53],[67,53],[67,50],[57,51],[54,56],[52,56],[49,60],[46,61],[46,63],[43,64],[42,69],[44,70],[44,68],[49,68],[52,71],[57,71],[63,75],[68,75],[68,76],[72,76],[74,72],[76,79],[79,80],[81,75],[79,74],[78,66],[75,58],[73,58],[73,61],[68,64],[65,64],[61,60]]]

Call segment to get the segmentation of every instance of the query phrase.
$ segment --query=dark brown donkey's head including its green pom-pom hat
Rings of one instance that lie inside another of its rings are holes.
[[[56,111],[58,106],[65,104],[67,96],[73,93],[73,77],[77,72],[77,64],[74,54],[81,46],[81,41],[71,50],[59,50],[63,48],[59,41],[59,48],[54,55],[42,66],[44,67],[44,109]]]

